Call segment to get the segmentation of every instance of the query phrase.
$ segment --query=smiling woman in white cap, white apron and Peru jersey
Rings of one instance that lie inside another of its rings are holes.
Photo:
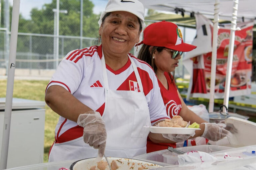
[[[102,44],[70,51],[60,62],[45,94],[60,115],[50,162],[144,154],[155,134],[143,126],[168,118],[154,71],[129,54],[143,14],[138,0],[109,0],[99,20]]]

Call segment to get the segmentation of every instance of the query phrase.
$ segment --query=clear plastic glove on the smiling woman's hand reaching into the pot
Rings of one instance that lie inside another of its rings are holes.
[[[100,113],[88,111],[84,114],[80,114],[77,124],[84,128],[84,142],[93,146],[94,149],[99,149],[98,157],[96,158],[96,162],[99,162],[104,155],[107,140],[105,122]]]

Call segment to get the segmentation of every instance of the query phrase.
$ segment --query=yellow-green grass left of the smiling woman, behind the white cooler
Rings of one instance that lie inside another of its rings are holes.
[[[44,101],[45,88],[48,82],[49,81],[14,80],[13,97]],[[0,80],[0,97],[6,96],[6,84],[6,80]],[[58,122],[59,115],[54,113],[48,106],[45,106],[45,109],[44,162],[48,162],[48,153],[54,141],[54,129]]]

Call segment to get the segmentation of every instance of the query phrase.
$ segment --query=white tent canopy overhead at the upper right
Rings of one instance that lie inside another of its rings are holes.
[[[214,18],[214,0],[139,0],[145,8],[175,12],[175,8],[184,9],[185,13],[201,13],[207,18]],[[233,0],[220,0],[219,18],[231,21]],[[180,14],[181,12],[178,12]],[[254,20],[256,17],[255,0],[239,0],[237,22]],[[256,24],[256,20],[254,21]]]

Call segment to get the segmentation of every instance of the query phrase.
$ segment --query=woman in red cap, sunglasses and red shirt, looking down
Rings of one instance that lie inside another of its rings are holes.
[[[182,52],[191,51],[196,46],[183,42],[179,27],[171,22],[157,22],[150,24],[144,30],[144,39],[138,45],[141,47],[138,58],[146,61],[156,73],[167,115],[172,118],[181,116],[187,122],[200,124],[201,130],[196,130],[194,136],[189,135],[163,135],[174,142],[182,142],[197,136],[217,141],[231,133],[224,129],[223,123],[207,123],[194,112],[189,110],[182,100],[174,82],[174,70],[178,66]],[[172,74],[171,74],[172,73]],[[175,143],[159,143],[158,138],[149,136],[147,152],[176,147]]]

